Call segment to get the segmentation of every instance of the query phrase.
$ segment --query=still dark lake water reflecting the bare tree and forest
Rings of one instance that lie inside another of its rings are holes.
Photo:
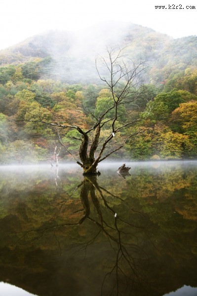
[[[197,161],[121,164],[0,167],[0,296],[197,295]]]

